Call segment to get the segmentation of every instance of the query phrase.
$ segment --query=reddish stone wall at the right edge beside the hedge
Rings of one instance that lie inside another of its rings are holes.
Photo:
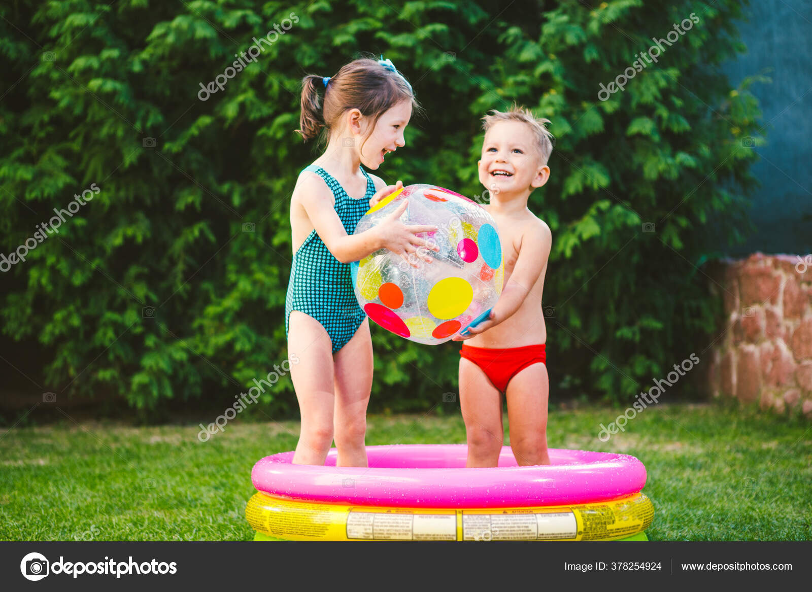
[[[708,270],[724,308],[712,395],[812,419],[812,256],[754,253]]]

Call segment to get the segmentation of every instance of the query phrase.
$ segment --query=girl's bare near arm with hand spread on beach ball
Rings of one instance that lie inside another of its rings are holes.
[[[407,225],[398,219],[406,210],[408,200],[404,200],[404,203],[387,218],[384,218],[377,227],[357,235],[348,235],[339,219],[339,214],[335,213],[332,193],[322,179],[317,176],[302,179],[297,192],[299,192],[300,203],[310,218],[310,222],[313,223],[317,235],[333,257],[342,263],[361,261],[369,253],[374,253],[380,248],[388,248],[402,257],[409,253],[416,253],[418,247],[432,248],[425,239],[420,238],[417,234],[436,231],[437,227]],[[434,250],[437,249],[435,246]],[[424,261],[431,261],[431,257],[428,255],[417,252],[417,256]],[[417,266],[417,261],[410,262],[412,266]]]

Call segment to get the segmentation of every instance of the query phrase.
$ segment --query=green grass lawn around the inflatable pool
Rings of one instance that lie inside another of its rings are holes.
[[[369,416],[367,443],[464,443],[458,413]],[[812,539],[808,422],[715,404],[661,405],[600,442],[598,424],[618,413],[553,409],[550,447],[642,460],[655,508],[651,539]],[[251,468],[292,450],[298,423],[231,421],[206,443],[199,430],[71,421],[0,430],[0,540],[250,540]]]

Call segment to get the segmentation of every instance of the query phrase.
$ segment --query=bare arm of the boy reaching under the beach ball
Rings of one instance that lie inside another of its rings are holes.
[[[538,223],[534,223],[522,236],[519,257],[516,259],[513,273],[496,305],[491,309],[490,316],[477,326],[471,327],[464,336],[456,335],[453,339],[455,341],[469,339],[512,317],[546,269],[551,246],[550,228],[538,220]]]

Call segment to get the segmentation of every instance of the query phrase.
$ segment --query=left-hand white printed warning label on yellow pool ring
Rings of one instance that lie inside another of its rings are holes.
[[[456,541],[456,515],[351,511],[347,516],[347,538]]]

